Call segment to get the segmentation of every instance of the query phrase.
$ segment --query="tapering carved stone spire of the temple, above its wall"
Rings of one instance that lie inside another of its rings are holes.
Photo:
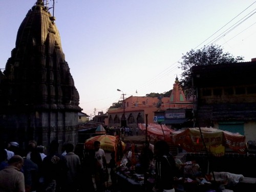
[[[54,20],[41,0],[28,11],[0,81],[0,104],[81,110]]]

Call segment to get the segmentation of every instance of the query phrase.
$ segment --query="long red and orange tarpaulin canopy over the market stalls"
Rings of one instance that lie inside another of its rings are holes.
[[[146,126],[145,124],[139,124],[139,128],[145,130]],[[244,135],[207,127],[201,127],[201,132],[208,149],[222,145],[229,147],[237,153],[244,154],[247,152]],[[147,126],[147,133],[151,138],[162,139],[172,142],[174,145],[179,145],[187,152],[201,152],[204,150],[200,129],[198,127],[174,131],[166,125],[151,123]]]

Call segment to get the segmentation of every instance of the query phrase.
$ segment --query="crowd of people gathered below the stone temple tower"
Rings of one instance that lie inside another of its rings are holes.
[[[105,155],[95,143],[94,156],[87,158],[75,154],[75,146],[65,143],[65,153],[59,153],[59,143],[51,141],[48,154],[44,146],[37,146],[37,142],[29,141],[25,150],[17,142],[9,142],[8,146],[0,148],[0,191],[95,191],[92,175],[97,178],[101,168],[106,166]],[[100,163],[100,167],[98,167]],[[91,183],[89,179],[91,178]],[[97,191],[99,180],[95,179]],[[92,185],[90,185],[92,184]],[[103,187],[103,186],[102,186]],[[96,187],[95,187],[96,188]]]

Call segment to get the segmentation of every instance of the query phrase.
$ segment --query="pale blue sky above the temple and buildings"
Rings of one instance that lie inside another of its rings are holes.
[[[1,69],[35,2],[1,1]],[[191,49],[216,41],[250,61],[256,57],[255,9],[250,0],[58,0],[54,16],[80,107],[93,116],[122,99],[117,89],[125,97],[171,90],[181,74],[177,61]]]

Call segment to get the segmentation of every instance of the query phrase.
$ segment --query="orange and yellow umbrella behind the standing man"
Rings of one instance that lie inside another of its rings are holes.
[[[112,135],[98,135],[91,137],[84,142],[84,148],[92,150],[94,141],[100,142],[100,148],[104,151],[112,152],[115,151],[116,137]],[[122,142],[122,147],[124,150],[125,144]]]

